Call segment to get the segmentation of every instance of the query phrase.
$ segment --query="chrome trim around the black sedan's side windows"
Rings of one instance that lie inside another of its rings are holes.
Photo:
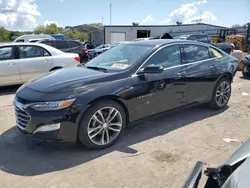
[[[190,45],[190,44],[193,44],[193,45],[198,45],[198,46],[204,46],[204,47],[207,47],[207,48],[210,48],[211,45],[206,45],[206,44],[197,44],[197,43],[192,43],[192,42],[188,42],[188,43],[174,43],[174,44],[167,44],[167,45],[164,45],[160,48],[158,48],[154,53],[152,53],[142,64],[141,66],[135,71],[134,74],[132,74],[132,77],[135,77],[137,76],[137,73],[138,71],[143,67],[143,65],[145,63],[147,63],[147,61],[153,56],[155,55],[158,51],[160,51],[161,49],[165,48],[165,47],[168,47],[168,46],[172,46],[172,45],[184,45],[184,44],[187,44],[187,45]],[[208,49],[209,50],[209,49]],[[181,51],[180,51],[181,52]],[[181,52],[182,53],[182,52]],[[223,54],[222,54],[223,55]],[[223,56],[223,58],[225,58]],[[192,62],[192,63],[187,63],[187,64],[181,64],[181,65],[176,65],[176,66],[173,66],[173,67],[168,67],[168,68],[164,68],[164,70],[168,70],[168,69],[171,69],[171,68],[176,68],[176,67],[182,67],[182,66],[186,66],[186,65],[192,65],[192,64],[198,64],[198,63],[202,63],[202,62],[206,62],[206,61],[209,61],[209,60],[215,60],[215,59],[218,59],[218,57],[214,57],[214,58],[209,58],[209,59],[205,59],[205,60],[201,60],[201,61],[195,61],[195,62]]]

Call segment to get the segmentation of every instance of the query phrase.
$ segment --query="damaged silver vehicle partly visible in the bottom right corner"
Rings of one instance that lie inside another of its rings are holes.
[[[205,163],[198,161],[183,188],[198,188]],[[208,179],[205,188],[250,187],[250,139],[218,168],[205,170]]]

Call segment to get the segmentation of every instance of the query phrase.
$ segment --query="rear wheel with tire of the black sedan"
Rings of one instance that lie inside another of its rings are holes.
[[[231,82],[226,79],[220,79],[213,91],[210,107],[215,110],[225,108],[231,96]]]

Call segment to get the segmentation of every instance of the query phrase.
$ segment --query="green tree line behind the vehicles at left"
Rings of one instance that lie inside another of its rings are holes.
[[[100,27],[101,24],[93,23],[89,24],[93,27]],[[29,32],[20,32],[20,31],[9,31],[4,27],[0,27],[0,42],[10,42],[15,40],[17,37],[26,35],[26,34],[64,34],[66,38],[80,41],[88,41],[89,33],[88,32],[80,32],[77,29],[64,29],[62,27],[58,27],[56,24],[50,24],[47,26],[38,26],[34,31]]]

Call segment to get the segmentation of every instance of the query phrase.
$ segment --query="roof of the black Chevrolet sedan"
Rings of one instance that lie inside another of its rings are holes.
[[[145,46],[164,46],[167,44],[199,44],[203,46],[210,46],[209,44],[198,42],[198,41],[190,41],[190,40],[179,40],[179,39],[155,39],[155,40],[141,40],[141,41],[132,41],[129,44],[135,45],[145,45]]]

